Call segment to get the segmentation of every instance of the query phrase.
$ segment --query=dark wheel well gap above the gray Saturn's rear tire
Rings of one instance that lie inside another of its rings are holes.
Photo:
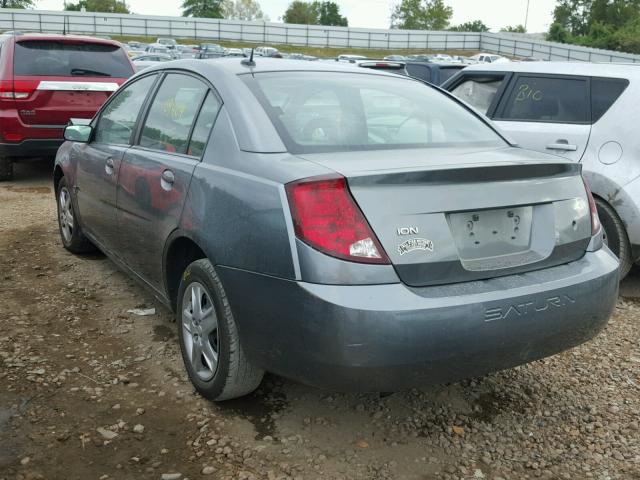
[[[174,310],[178,304],[182,274],[191,263],[202,258],[208,258],[207,254],[189,235],[176,230],[169,236],[165,246],[163,271],[165,289]]]

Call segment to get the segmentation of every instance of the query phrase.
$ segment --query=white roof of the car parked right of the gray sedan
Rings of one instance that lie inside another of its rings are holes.
[[[469,65],[465,72],[554,73],[594,77],[640,77],[640,64],[587,62],[510,62]]]

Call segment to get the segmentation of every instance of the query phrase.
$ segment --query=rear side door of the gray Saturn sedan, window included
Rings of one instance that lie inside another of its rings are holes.
[[[220,106],[202,79],[167,73],[120,167],[119,251],[125,263],[158,290],[163,288],[165,241],[178,227],[191,175]]]

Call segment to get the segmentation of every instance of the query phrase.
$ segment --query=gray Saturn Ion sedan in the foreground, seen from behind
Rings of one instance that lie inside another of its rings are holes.
[[[592,338],[616,302],[580,165],[408,77],[181,60],[65,135],[64,247],[176,312],[213,400],[265,371],[394,391],[506,369]]]

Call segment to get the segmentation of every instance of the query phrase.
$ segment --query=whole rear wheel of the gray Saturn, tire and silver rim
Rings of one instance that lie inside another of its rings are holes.
[[[207,259],[189,265],[180,282],[178,338],[191,383],[210,400],[251,393],[264,371],[246,357],[222,283]]]

